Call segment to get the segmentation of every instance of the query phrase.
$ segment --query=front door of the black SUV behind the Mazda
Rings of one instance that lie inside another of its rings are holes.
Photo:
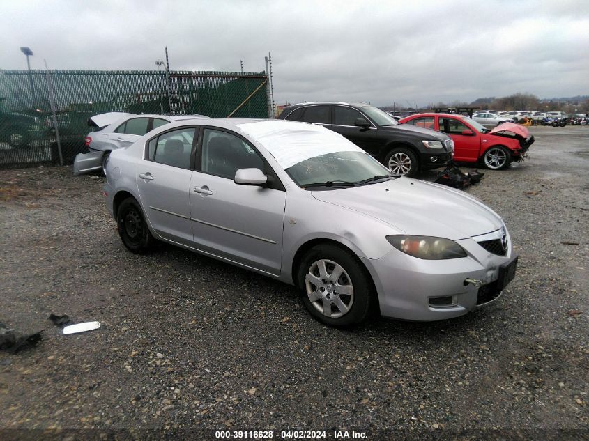
[[[356,146],[371,155],[379,155],[383,146],[383,139],[379,137],[378,129],[367,116],[348,106],[332,106],[332,124],[326,126],[352,141]],[[357,119],[363,119],[370,127],[358,127]],[[381,135],[382,136],[382,135]]]

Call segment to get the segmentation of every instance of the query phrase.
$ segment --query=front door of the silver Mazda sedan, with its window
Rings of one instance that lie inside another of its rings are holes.
[[[199,146],[199,164],[190,182],[194,247],[280,274],[286,203],[282,183],[257,150],[234,132],[206,127]],[[273,184],[236,184],[236,171],[247,168],[273,175]]]

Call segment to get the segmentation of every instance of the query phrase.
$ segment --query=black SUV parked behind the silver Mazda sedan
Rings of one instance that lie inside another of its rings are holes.
[[[278,118],[321,124],[342,134],[397,175],[443,167],[454,154],[454,141],[447,134],[399,124],[362,102],[303,102],[284,107]]]

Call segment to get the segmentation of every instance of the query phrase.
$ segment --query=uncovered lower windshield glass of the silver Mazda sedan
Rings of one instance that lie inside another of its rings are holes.
[[[342,151],[310,157],[286,169],[302,188],[354,187],[391,179],[390,171],[365,152]]]

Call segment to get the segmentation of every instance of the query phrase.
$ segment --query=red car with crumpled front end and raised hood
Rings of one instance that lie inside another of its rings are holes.
[[[415,114],[399,123],[445,132],[454,140],[454,160],[482,162],[489,169],[506,169],[513,161],[523,161],[534,137],[526,127],[503,123],[492,130],[468,116],[457,114]]]

